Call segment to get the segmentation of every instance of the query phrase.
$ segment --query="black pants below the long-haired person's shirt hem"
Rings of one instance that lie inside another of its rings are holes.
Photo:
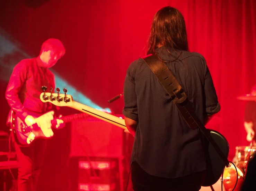
[[[137,162],[132,163],[131,179],[134,191],[198,191],[205,178],[205,171],[168,179],[145,172]]]

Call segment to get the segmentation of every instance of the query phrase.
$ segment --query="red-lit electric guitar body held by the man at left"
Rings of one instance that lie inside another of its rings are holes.
[[[30,115],[32,115],[37,121],[37,118],[47,116],[49,115],[49,113],[50,112],[47,112],[43,115],[30,113]],[[12,129],[14,132],[14,138],[16,143],[21,147],[26,147],[30,145],[37,138],[48,139],[53,136],[52,133],[52,136],[46,137],[38,124],[28,127],[26,123],[21,120],[17,115],[15,115],[13,119],[14,120],[12,120]],[[48,129],[52,131],[51,127],[48,127]]]

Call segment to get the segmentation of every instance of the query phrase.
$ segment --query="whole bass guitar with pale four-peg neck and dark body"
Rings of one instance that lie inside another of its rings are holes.
[[[42,102],[51,102],[52,104],[57,105],[59,107],[62,107],[62,106],[70,107],[70,108],[76,109],[78,111],[81,111],[83,113],[87,113],[87,114],[89,114],[93,117],[96,117],[98,119],[101,119],[103,121],[114,124],[117,127],[120,127],[122,129],[127,129],[125,126],[124,119],[120,119],[111,114],[96,110],[87,105],[83,105],[81,103],[73,101],[72,96],[66,94],[67,90],[65,91],[65,94],[59,94],[59,93],[57,94],[57,93],[45,92],[45,90],[47,89],[46,87],[43,87],[42,89],[44,90],[44,92],[41,93],[41,95],[40,95],[40,99]],[[52,98],[54,98],[54,99],[52,99]],[[211,129],[205,129],[205,134],[208,134],[208,135],[210,134],[213,141],[217,144],[217,146],[223,152],[224,158],[226,157],[226,159],[227,159],[228,154],[229,154],[229,144],[228,144],[228,141],[226,140],[226,138],[219,132],[211,130]],[[202,134],[202,136],[203,136],[203,134]],[[204,138],[205,138],[205,136],[204,136]],[[208,136],[208,138],[209,138],[209,136]],[[209,143],[208,139],[205,138],[204,140],[205,140],[205,153],[206,153],[205,155],[206,155],[207,170],[206,170],[206,177],[203,182],[203,186],[208,187],[208,186],[215,184],[219,180],[226,164],[220,157],[219,153],[214,149],[212,144]],[[228,162],[228,161],[226,161],[226,162]]]

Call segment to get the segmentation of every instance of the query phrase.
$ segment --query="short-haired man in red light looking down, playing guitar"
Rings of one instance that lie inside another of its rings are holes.
[[[36,124],[33,114],[41,115],[53,109],[52,104],[40,101],[40,87],[55,88],[54,74],[48,68],[54,66],[64,54],[65,48],[60,40],[48,39],[42,44],[38,57],[21,60],[14,67],[6,90],[6,99],[11,107],[7,124],[10,125],[18,117],[29,127]],[[53,115],[54,111],[50,112],[48,117],[43,118],[42,124],[51,127]],[[64,127],[64,123],[58,119],[56,128],[60,127]],[[50,136],[52,131],[48,133]],[[14,133],[11,135],[15,137]],[[35,140],[28,147],[20,147],[17,139],[13,141],[18,161],[18,191],[34,191],[43,165],[46,140]]]

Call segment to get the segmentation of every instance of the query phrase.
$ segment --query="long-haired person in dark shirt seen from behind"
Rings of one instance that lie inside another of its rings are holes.
[[[171,20],[174,18],[172,14],[178,17],[177,20],[183,19],[176,9],[170,7],[156,13],[148,54],[156,54],[166,63],[182,85],[198,118],[204,123],[208,115],[220,110],[220,105],[205,59],[198,53],[187,51],[186,32],[184,29],[173,29],[176,26]],[[167,31],[168,28],[161,26],[161,20],[170,22],[166,24],[170,30],[183,31],[184,43],[165,42],[168,37],[161,31]],[[159,34],[157,31],[160,31]],[[134,190],[177,189],[180,178],[184,177],[187,181],[193,177],[194,182],[187,182],[187,187],[180,186],[181,190],[199,190],[206,170],[203,135],[199,129],[188,127],[169,94],[141,58],[132,62],[127,69],[124,101],[126,126],[135,135],[131,157]],[[145,185],[144,180],[150,181],[151,185]],[[159,182],[164,185],[161,189]]]

